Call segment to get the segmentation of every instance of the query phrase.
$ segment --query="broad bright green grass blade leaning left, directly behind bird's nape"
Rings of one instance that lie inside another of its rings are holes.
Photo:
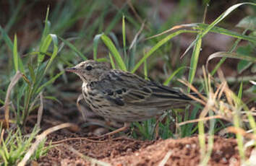
[[[108,47],[109,51],[111,51],[111,53],[113,54],[119,68],[123,71],[127,71],[127,67],[125,66],[123,59],[121,58],[119,52],[116,49],[116,46],[111,41],[111,39],[108,38],[108,36],[102,34],[101,35],[101,40],[103,40],[103,43]]]

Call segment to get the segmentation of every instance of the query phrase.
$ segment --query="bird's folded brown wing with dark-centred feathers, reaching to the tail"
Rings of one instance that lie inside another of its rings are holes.
[[[170,87],[138,77],[135,74],[112,70],[95,84],[105,98],[115,105],[171,105],[171,101],[190,100],[187,95]]]

